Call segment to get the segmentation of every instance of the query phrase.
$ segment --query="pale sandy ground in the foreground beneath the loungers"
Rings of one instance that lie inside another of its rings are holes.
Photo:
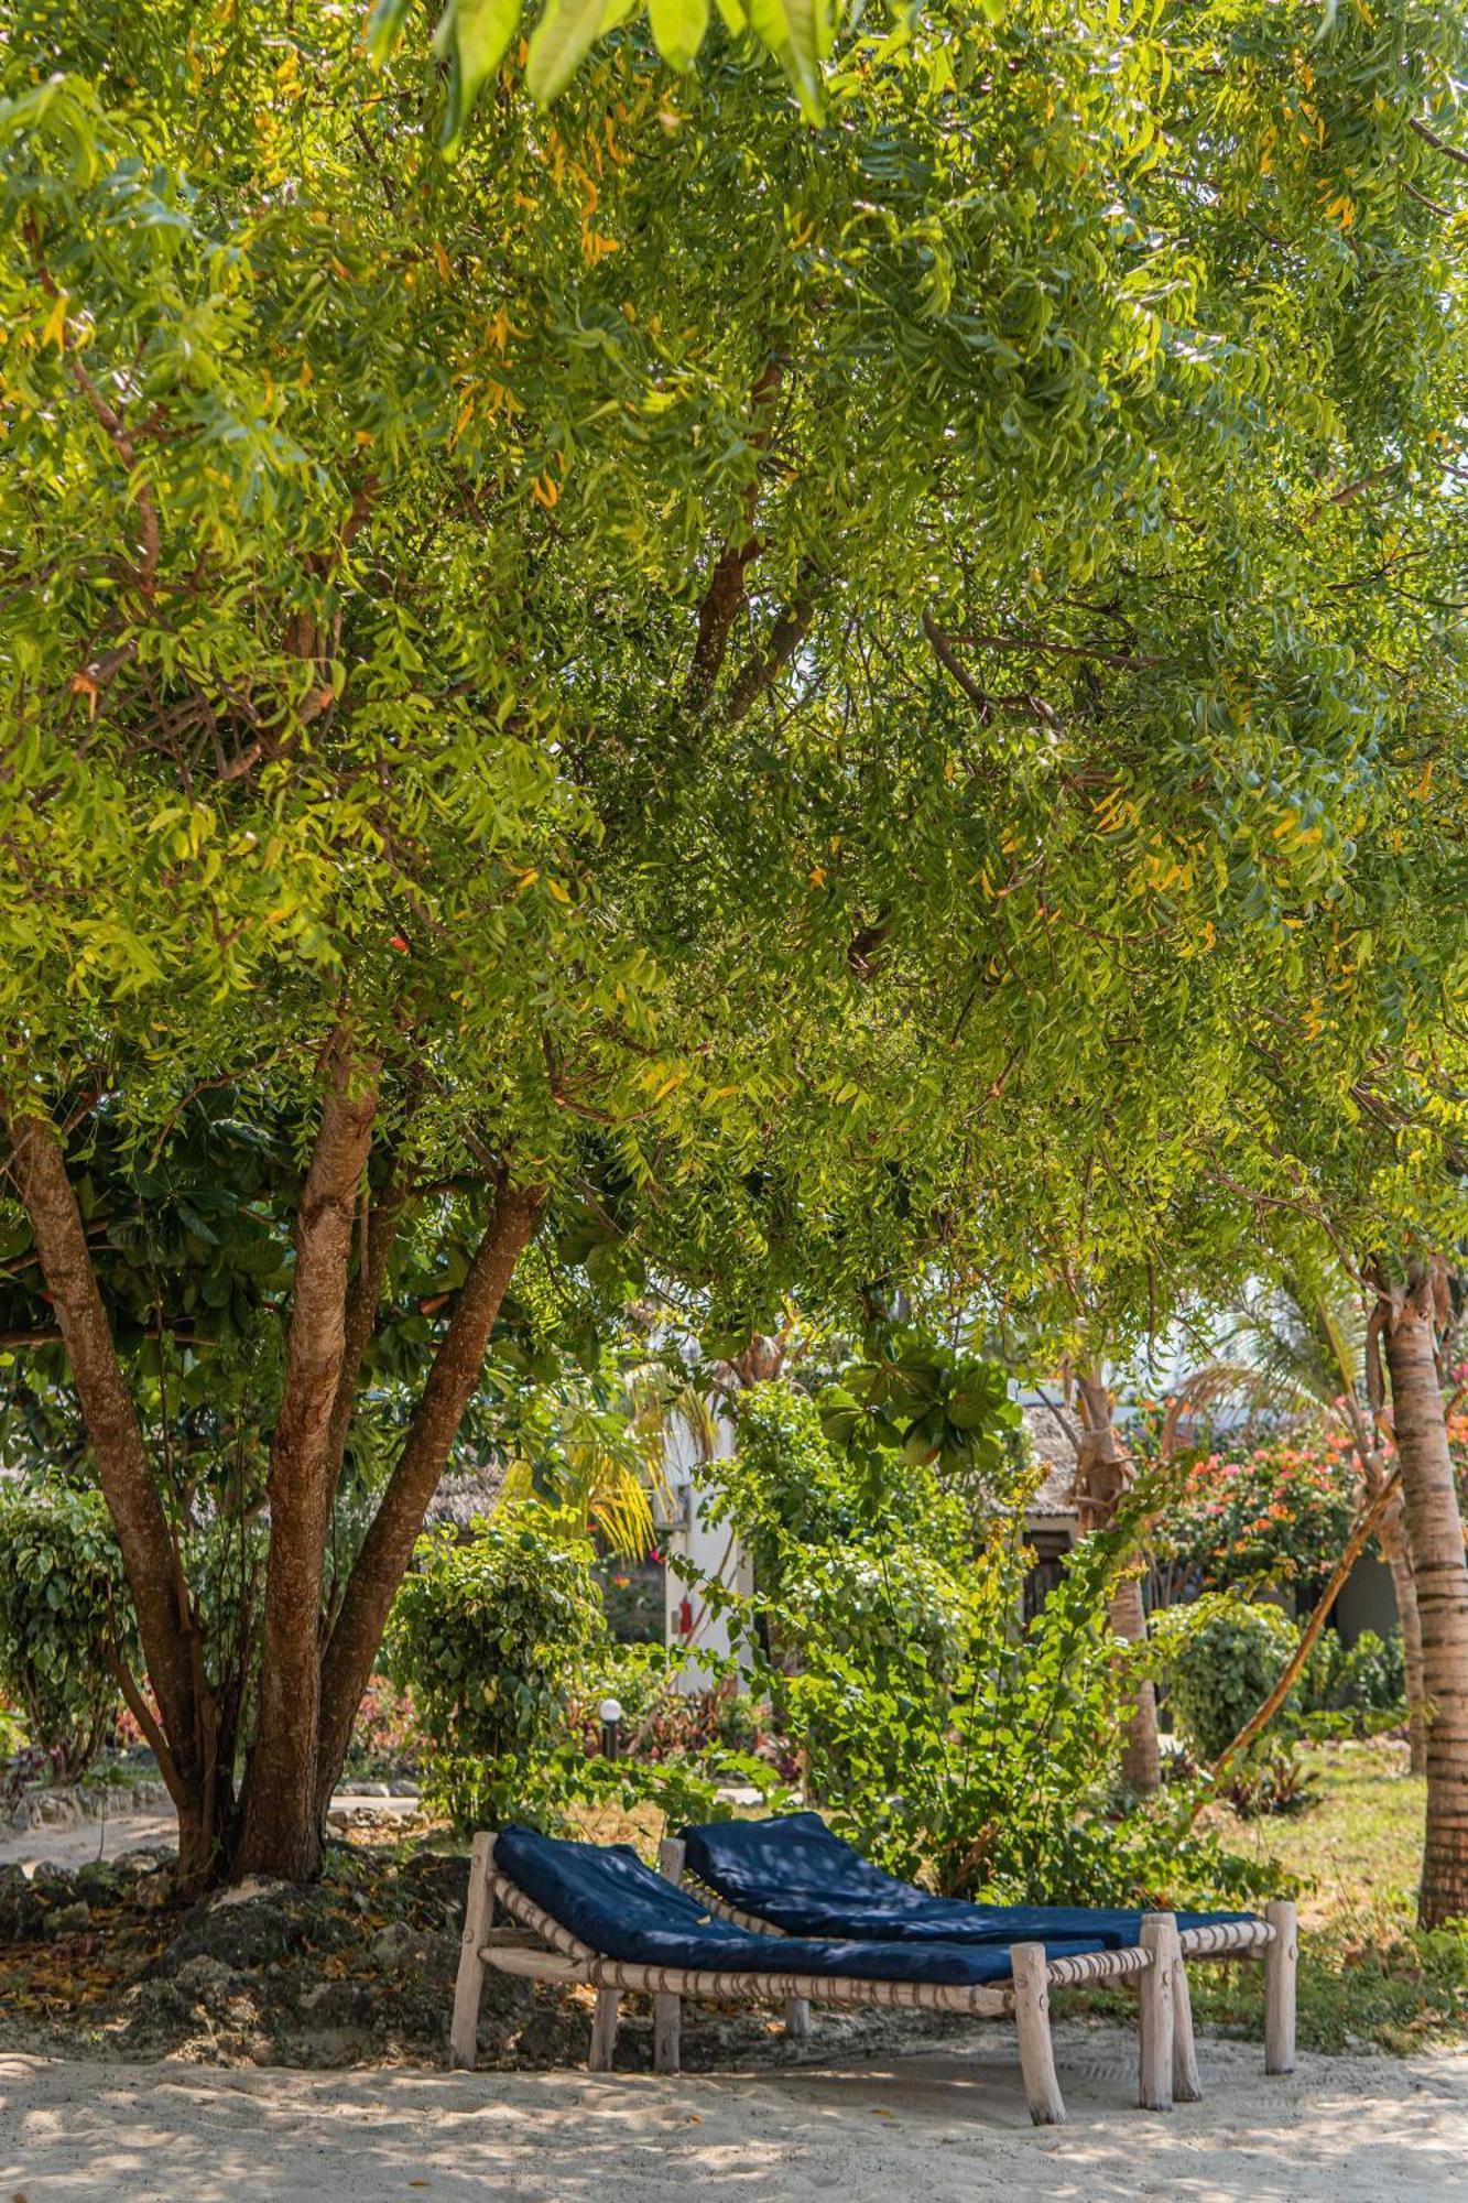
[[[280,2073],[0,2058],[4,2203],[1415,2203],[1468,2194],[1468,2055],[1201,2044],[1206,2099],[1131,2106],[1120,2029],[1060,2027],[1067,2128],[1007,2029],[882,2071]]]

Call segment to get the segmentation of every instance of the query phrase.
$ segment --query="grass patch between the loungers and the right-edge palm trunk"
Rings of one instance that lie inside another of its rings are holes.
[[[1305,1813],[1239,1820],[1215,1811],[1232,1851],[1276,1870],[1300,1901],[1300,2047],[1415,2051],[1468,2038],[1468,1921],[1417,1928],[1424,1789],[1389,1740],[1307,1749]],[[1201,2025],[1259,2038],[1263,1967],[1199,1965]]]

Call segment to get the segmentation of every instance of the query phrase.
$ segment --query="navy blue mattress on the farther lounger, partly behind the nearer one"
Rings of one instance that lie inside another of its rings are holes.
[[[930,1897],[871,1866],[827,1828],[820,1813],[776,1813],[771,1820],[716,1820],[683,1828],[688,1866],[741,1912],[754,1912],[787,1934],[862,1936],[908,1945],[1045,1943],[1082,1936],[1078,1950],[1126,1950],[1140,1939],[1142,1914],[1078,1906],[974,1906],[963,1897]],[[1179,1928],[1245,1921],[1250,1912],[1179,1912]]]

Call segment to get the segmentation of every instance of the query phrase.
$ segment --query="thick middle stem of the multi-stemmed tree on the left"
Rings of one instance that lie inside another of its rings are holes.
[[[240,1868],[304,1881],[322,1864],[315,1811],[322,1712],[322,1573],[346,1350],[357,1196],[377,1115],[377,1064],[335,1035],[331,1086],[295,1216],[295,1278],[271,1439],[260,1712],[242,1791]]]

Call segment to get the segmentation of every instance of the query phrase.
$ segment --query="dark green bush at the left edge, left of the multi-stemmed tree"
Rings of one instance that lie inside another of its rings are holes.
[[[0,1694],[71,1782],[121,1707],[112,1661],[137,1672],[128,1580],[101,1496],[2,1483],[0,1553]]]

